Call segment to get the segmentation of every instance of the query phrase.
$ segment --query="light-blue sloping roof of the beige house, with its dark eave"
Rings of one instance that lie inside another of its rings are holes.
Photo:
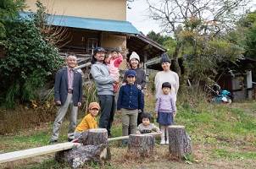
[[[19,13],[19,15],[23,18],[28,17],[29,14],[33,13]],[[118,35],[125,35],[127,37],[126,47],[129,49],[130,54],[131,52],[137,52],[141,58],[145,57],[145,51],[147,52],[147,59],[158,57],[167,51],[166,48],[159,45],[159,43],[156,41],[142,35],[140,31],[136,30],[136,28],[127,21],[51,15],[51,17],[48,19],[48,25],[58,25],[70,27],[72,29],[103,31]],[[143,59],[141,60],[143,61]]]

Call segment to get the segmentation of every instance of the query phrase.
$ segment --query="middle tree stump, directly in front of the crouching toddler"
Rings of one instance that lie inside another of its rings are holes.
[[[143,157],[153,155],[153,135],[131,134],[128,141],[128,151]]]

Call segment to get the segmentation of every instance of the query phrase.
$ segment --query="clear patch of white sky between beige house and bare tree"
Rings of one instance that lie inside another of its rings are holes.
[[[147,19],[147,3],[144,0],[135,0],[129,3],[129,7],[131,9],[126,9],[126,20],[131,22],[137,30],[142,31],[144,35],[147,35],[151,30],[156,33],[160,32],[158,24]]]

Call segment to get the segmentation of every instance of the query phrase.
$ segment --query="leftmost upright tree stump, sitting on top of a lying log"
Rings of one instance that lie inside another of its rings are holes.
[[[108,131],[105,128],[89,129],[81,133],[78,141],[83,145],[108,144]]]

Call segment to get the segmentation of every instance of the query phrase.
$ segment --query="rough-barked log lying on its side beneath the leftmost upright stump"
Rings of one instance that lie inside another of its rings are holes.
[[[79,168],[90,162],[99,162],[104,165],[111,158],[107,144],[85,145],[76,147],[67,152],[66,161],[71,168]]]

